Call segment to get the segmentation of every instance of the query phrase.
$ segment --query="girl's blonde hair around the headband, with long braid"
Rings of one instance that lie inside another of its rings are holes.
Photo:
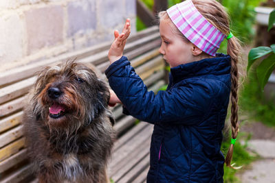
[[[214,27],[217,27],[220,32],[225,35],[230,34],[230,19],[228,13],[221,3],[215,0],[192,0],[197,10],[202,14],[202,16]],[[159,20],[170,21],[167,12],[159,12]],[[172,21],[170,21],[171,24]],[[175,25],[171,26],[177,34],[181,34]],[[187,40],[184,34],[181,36]],[[231,58],[231,137],[236,139],[239,132],[238,123],[238,88],[239,88],[239,71],[238,63],[241,60],[241,45],[238,38],[233,36],[228,40],[227,53]],[[225,158],[225,164],[227,167],[232,167],[231,160],[233,155],[234,145],[230,145],[228,149],[228,154]],[[232,167],[234,168],[234,167]]]

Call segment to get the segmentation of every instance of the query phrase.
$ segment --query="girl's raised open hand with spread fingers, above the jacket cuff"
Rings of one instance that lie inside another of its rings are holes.
[[[109,53],[108,53],[110,64],[112,64],[116,60],[119,60],[122,57],[123,49],[126,44],[126,39],[129,37],[130,33],[131,33],[130,19],[126,19],[126,23],[124,25],[124,28],[121,34],[118,32],[118,30],[115,30],[113,32],[115,36],[115,40],[113,41],[113,44],[111,45],[111,48],[109,49]]]

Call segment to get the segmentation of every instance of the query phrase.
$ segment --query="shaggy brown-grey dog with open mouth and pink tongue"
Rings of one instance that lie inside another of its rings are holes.
[[[39,73],[23,117],[39,182],[109,182],[109,97],[107,84],[84,64],[67,62]]]

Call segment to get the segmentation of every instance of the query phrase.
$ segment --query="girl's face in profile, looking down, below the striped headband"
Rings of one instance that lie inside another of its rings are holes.
[[[176,34],[171,26],[175,25],[167,20],[161,20],[159,23],[159,34],[162,38],[162,46],[159,48],[159,53],[170,64],[170,68],[194,62],[196,59],[192,55],[192,42],[186,41],[179,34]],[[177,27],[175,28],[177,29]]]

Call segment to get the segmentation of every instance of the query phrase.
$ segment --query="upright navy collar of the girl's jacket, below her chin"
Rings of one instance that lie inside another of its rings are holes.
[[[205,58],[203,60],[181,64],[170,69],[170,75],[174,82],[183,80],[186,77],[198,75],[222,75],[230,73],[230,56],[223,53],[217,53],[214,58]]]

